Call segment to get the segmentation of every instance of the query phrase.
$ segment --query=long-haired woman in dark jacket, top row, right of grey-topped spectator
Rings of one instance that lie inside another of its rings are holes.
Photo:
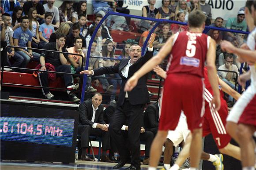
[[[60,16],[60,24],[62,22],[71,22],[71,14],[74,11],[73,9],[74,0],[64,0],[63,3],[59,7],[59,16]]]

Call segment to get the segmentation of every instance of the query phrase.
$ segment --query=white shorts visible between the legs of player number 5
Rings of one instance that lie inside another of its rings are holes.
[[[186,141],[186,138],[189,134],[190,130],[188,130],[188,124],[186,116],[183,112],[181,112],[181,116],[179,119],[179,123],[175,130],[169,130],[167,137],[169,140],[173,142],[173,145],[176,147],[183,140]]]

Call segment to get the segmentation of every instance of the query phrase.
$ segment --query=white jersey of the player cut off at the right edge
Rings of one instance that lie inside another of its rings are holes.
[[[248,35],[247,45],[250,50],[256,50],[256,27],[252,30],[252,32]],[[249,65],[251,70],[251,87],[252,93],[256,94],[256,63],[254,65]]]

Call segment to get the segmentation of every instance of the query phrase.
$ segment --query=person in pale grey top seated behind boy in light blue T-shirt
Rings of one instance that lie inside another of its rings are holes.
[[[50,12],[53,16],[51,24],[54,28],[59,28],[60,26],[60,17],[59,17],[59,9],[54,6],[55,0],[48,0],[47,4],[44,4],[45,12]]]

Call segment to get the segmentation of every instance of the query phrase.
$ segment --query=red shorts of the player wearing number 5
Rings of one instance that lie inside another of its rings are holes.
[[[188,74],[169,74],[162,91],[159,130],[175,130],[181,110],[187,116],[188,129],[202,127],[204,114],[203,79]]]

